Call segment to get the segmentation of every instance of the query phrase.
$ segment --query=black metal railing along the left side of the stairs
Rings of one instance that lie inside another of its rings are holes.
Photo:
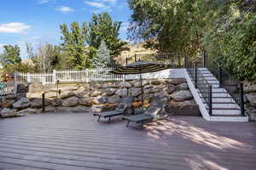
[[[201,70],[197,68],[197,64],[187,55],[185,56],[185,67],[195,88],[199,89],[202,99],[207,104],[209,115],[212,115],[212,85],[207,82]]]

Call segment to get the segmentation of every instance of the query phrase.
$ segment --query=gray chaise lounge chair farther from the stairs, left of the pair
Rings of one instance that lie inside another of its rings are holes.
[[[115,111],[105,111],[102,113],[95,113],[93,116],[98,116],[98,121],[100,121],[101,117],[108,118],[108,123],[110,122],[111,117],[113,116],[121,116],[125,115],[125,112],[131,108],[131,103],[133,101],[133,96],[129,95],[126,96],[122,101],[119,103],[118,107],[115,109]]]

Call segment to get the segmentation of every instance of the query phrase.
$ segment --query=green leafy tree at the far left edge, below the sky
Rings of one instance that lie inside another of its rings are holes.
[[[10,64],[20,63],[20,48],[17,45],[3,46],[3,54],[0,54],[0,62],[4,68]]]

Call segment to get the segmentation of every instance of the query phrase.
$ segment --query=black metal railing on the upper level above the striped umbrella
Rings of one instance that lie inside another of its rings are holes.
[[[182,53],[165,53],[165,54],[135,54],[131,58],[126,59],[126,65],[134,63],[138,60],[152,61],[172,65],[172,68],[184,67],[184,54]]]

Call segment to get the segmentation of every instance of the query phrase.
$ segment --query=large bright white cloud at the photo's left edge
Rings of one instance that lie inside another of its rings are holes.
[[[31,27],[22,22],[10,22],[0,24],[0,33],[26,33],[26,30]]]

